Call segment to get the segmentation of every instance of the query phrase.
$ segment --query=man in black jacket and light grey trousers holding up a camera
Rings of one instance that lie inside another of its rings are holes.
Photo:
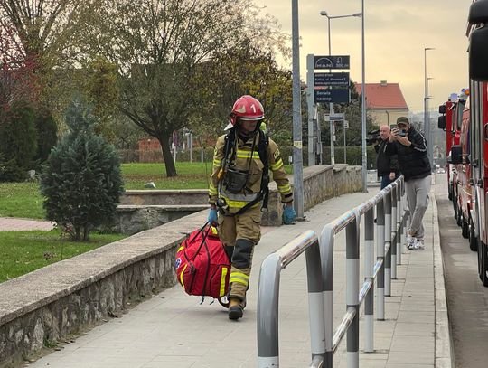
[[[407,248],[424,250],[422,219],[427,210],[432,173],[426,138],[410,125],[408,118],[400,117],[397,119],[397,127],[391,129],[386,152],[398,155],[399,171],[405,177],[408,212],[411,216]]]

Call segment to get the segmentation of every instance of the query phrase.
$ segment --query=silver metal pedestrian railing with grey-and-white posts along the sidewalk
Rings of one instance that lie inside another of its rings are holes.
[[[377,319],[385,319],[385,296],[391,278],[397,278],[401,244],[405,241],[408,210],[403,176],[326,224],[320,237],[305,231],[267,256],[258,286],[258,367],[279,367],[278,295],[282,269],[305,251],[312,361],[309,367],[333,366],[333,354],[347,333],[347,367],[359,366],[359,308],[364,302],[365,352],[373,352],[374,279],[377,284]],[[374,261],[374,211],[376,248]],[[364,282],[359,286],[360,224],[364,215]],[[335,235],[346,234],[346,313],[333,334],[333,248]]]

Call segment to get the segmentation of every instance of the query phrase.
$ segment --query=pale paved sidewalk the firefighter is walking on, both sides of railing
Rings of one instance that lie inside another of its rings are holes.
[[[53,352],[30,366],[256,367],[256,296],[259,266],[263,259],[303,231],[312,229],[320,233],[327,222],[367,201],[378,191],[379,188],[371,188],[370,193],[352,193],[333,198],[306,212],[308,222],[267,228],[263,231],[262,240],[254,255],[249,304],[244,318],[239,322],[230,321],[226,310],[218,303],[211,304],[210,299],[205,299],[201,304],[201,297],[186,296],[182,288],[176,286],[134,307],[121,318],[111,319],[108,323],[93,328],[74,343],[64,344],[61,351]],[[361,350],[361,367],[450,367],[448,327],[445,328],[446,310],[436,311],[436,306],[446,306],[442,261],[439,264],[440,252],[436,251],[435,254],[434,251],[439,247],[436,221],[436,205],[431,201],[424,220],[426,250],[403,250],[398,278],[392,280],[391,297],[386,298],[386,320],[375,321],[375,352],[365,354]],[[345,311],[344,240],[342,231],[337,237],[334,250],[334,328]],[[362,260],[360,263],[362,264]],[[442,285],[438,278],[441,278]],[[281,367],[305,367],[310,362],[310,322],[306,290],[305,255],[302,255],[281,276]],[[362,322],[360,323],[362,330]],[[362,346],[361,334],[360,349]],[[347,366],[344,350],[345,338],[334,354],[334,367]]]

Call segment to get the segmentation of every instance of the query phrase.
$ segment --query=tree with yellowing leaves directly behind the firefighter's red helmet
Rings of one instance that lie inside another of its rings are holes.
[[[265,109],[267,130],[285,143],[291,137],[292,78],[280,68],[269,48],[245,39],[230,50],[217,53],[200,69],[202,92],[197,109],[202,118],[193,130],[218,137],[229,120],[230,109],[244,94],[257,98]]]

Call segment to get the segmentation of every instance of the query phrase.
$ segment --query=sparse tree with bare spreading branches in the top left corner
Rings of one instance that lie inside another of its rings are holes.
[[[85,26],[98,1],[0,1],[0,30],[10,30],[9,42],[18,46],[24,60],[34,62],[44,109],[63,110],[60,99],[69,100],[63,99],[67,93],[60,90],[60,76],[87,58]]]

